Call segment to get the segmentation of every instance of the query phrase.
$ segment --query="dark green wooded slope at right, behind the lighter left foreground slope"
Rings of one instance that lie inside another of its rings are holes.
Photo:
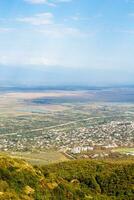
[[[134,161],[132,160],[78,160],[44,166],[42,171],[47,179],[53,176],[58,180],[60,177],[70,184],[73,179],[76,179],[86,199],[91,198],[90,195],[94,199],[134,199]]]

